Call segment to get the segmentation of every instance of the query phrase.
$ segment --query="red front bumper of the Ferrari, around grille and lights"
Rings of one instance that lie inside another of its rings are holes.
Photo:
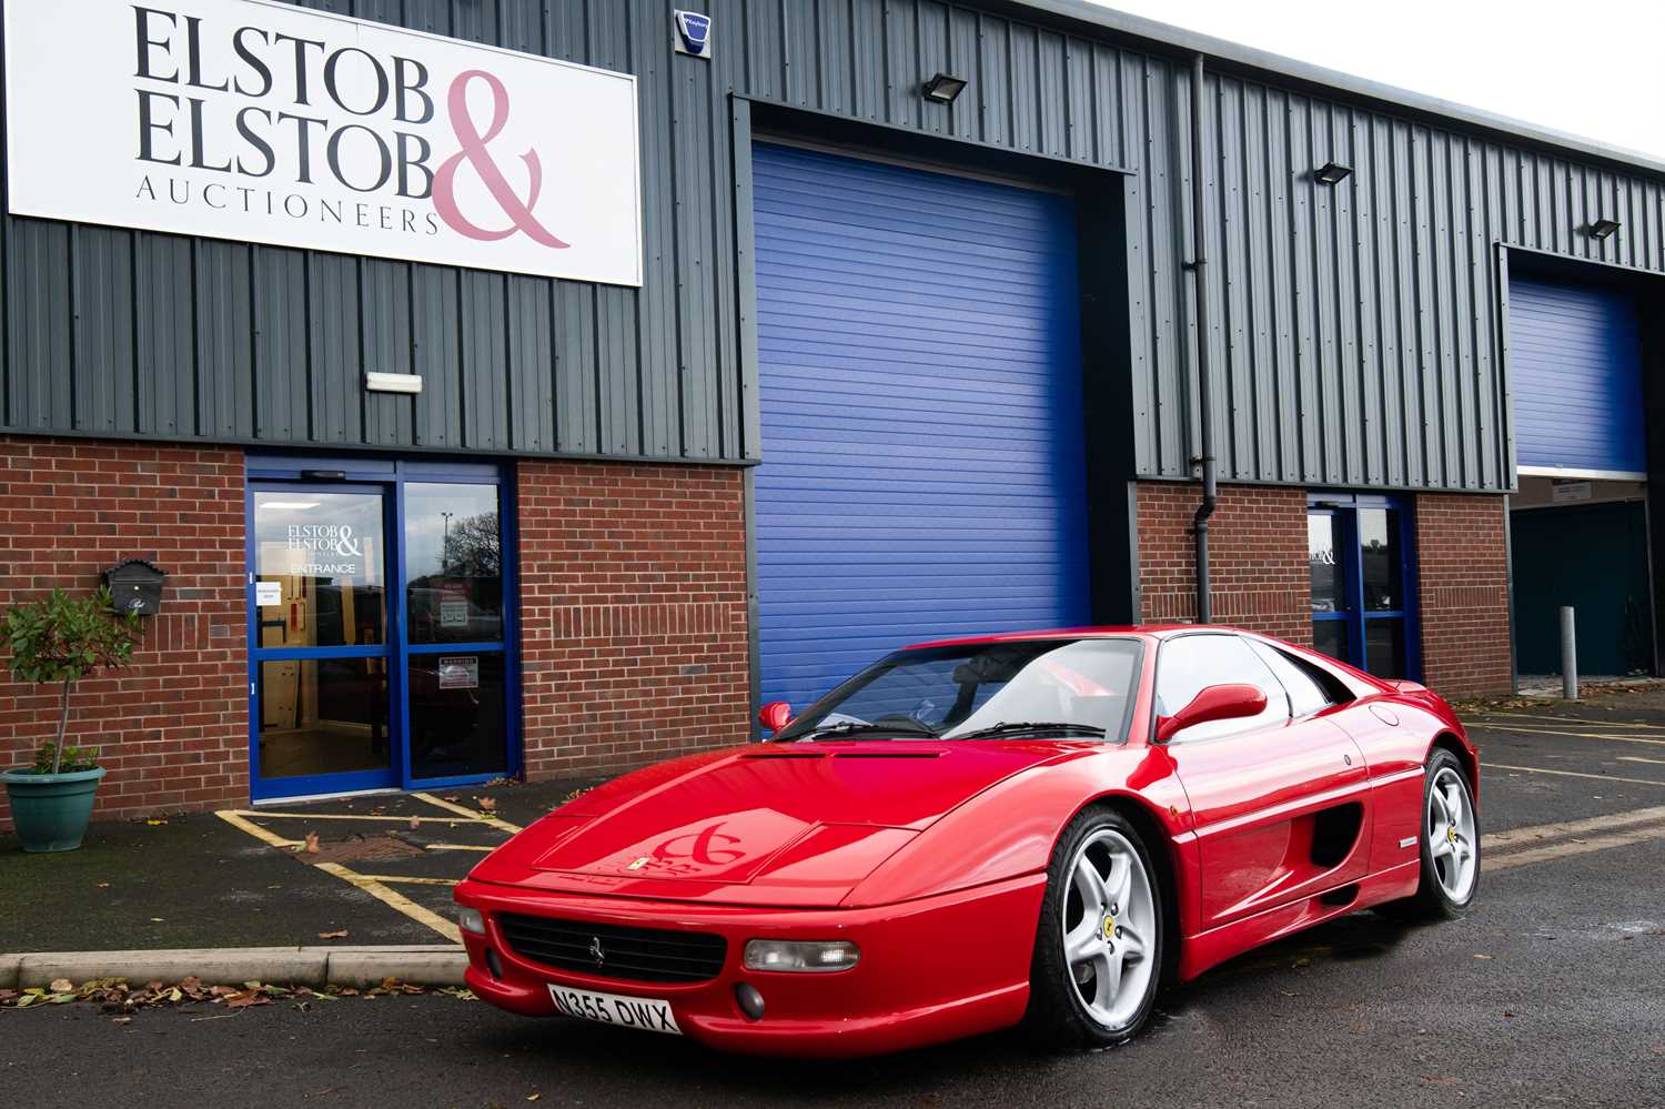
[[[671,1002],[683,1031],[711,1047],[783,1056],[864,1056],[976,1036],[1016,1024],[1029,1001],[1029,962],[1046,876],[871,909],[758,909],[686,901],[554,894],[481,881],[456,888],[458,904],[486,918],[486,934],[463,932],[468,986],[491,1004],[554,1016],[549,986]],[[573,923],[714,932],[721,972],[693,984],[636,982],[534,962],[513,951],[500,913]],[[748,971],[748,939],[847,939],[861,959],[836,972]],[[496,954],[493,972],[486,952]],[[748,1019],[734,989],[764,999]],[[623,1032],[621,1032],[623,1034]]]

